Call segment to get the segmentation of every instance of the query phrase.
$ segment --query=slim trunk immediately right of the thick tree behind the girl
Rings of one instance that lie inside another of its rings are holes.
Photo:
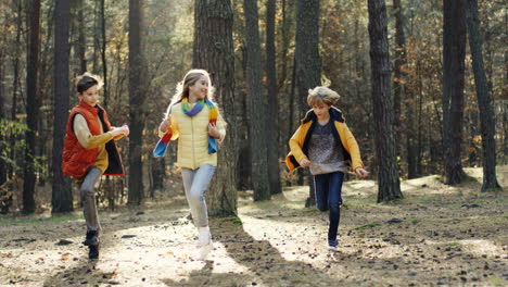
[[[257,0],[244,0],[246,38],[246,82],[249,137],[251,142],[254,200],[270,199],[266,146],[266,100],[263,97],[263,70],[258,30]],[[275,147],[272,147],[275,149]]]

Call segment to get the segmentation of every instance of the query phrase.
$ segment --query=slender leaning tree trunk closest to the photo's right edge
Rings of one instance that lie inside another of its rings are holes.
[[[483,150],[483,185],[482,192],[499,189],[496,177],[496,140],[494,134],[496,123],[492,109],[492,96],[483,66],[482,37],[480,36],[480,20],[478,16],[478,1],[467,0],[467,25],[469,30],[469,48],[472,55],[472,67],[477,87],[478,104],[480,107],[480,122],[482,130]]]

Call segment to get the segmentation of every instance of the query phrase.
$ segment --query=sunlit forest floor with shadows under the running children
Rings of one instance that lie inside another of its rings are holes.
[[[480,194],[481,169],[467,169],[472,179],[454,187],[440,176],[404,180],[405,198],[382,204],[374,182],[345,183],[335,253],[326,247],[327,213],[303,208],[306,187],[268,202],[240,192],[238,219],[211,220],[207,261],[194,259],[181,196],[142,211],[101,211],[94,261],[80,244],[78,211],[3,216],[0,285],[508,286],[508,166],[497,171],[501,192]]]

